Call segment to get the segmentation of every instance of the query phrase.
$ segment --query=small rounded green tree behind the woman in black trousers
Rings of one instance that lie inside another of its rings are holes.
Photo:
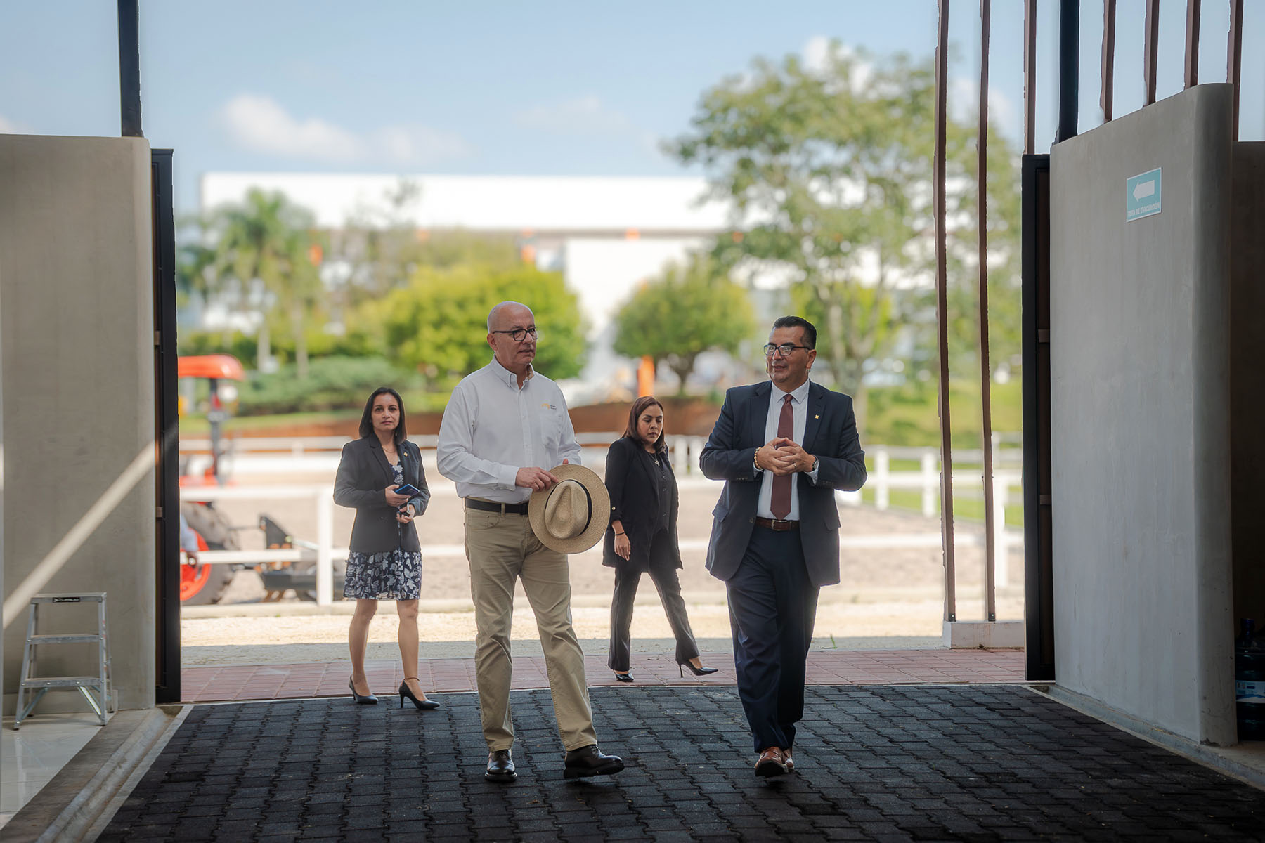
[[[746,291],[707,255],[669,264],[641,286],[615,315],[614,349],[624,356],[649,355],[667,363],[686,392],[698,355],[710,349],[736,354],[755,330]]]

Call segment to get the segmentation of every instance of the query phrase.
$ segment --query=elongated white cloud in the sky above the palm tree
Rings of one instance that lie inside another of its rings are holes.
[[[220,109],[219,118],[238,147],[302,161],[425,166],[471,152],[460,135],[424,125],[355,133],[320,118],[300,120],[272,97],[258,94],[233,97]]]

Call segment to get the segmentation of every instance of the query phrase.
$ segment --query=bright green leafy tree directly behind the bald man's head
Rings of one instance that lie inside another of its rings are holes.
[[[379,336],[390,359],[415,368],[441,388],[491,359],[487,313],[506,300],[522,302],[535,313],[540,337],[534,365],[554,379],[578,375],[587,350],[579,300],[562,274],[528,264],[423,267],[407,287],[362,305],[354,330]]]

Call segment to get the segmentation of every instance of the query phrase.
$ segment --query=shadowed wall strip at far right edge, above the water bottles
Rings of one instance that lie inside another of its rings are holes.
[[[1230,253],[1235,622],[1265,628],[1265,143],[1235,144]]]

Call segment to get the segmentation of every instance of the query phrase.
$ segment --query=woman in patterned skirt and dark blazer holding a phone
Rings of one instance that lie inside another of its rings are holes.
[[[364,675],[369,622],[378,600],[395,600],[400,616],[400,658],[405,680],[400,707],[407,696],[419,709],[439,708],[417,681],[417,600],[421,598],[421,545],[412,521],[426,511],[430,490],[421,469],[421,450],[405,440],[404,402],[390,387],[378,387],[364,404],[361,439],[343,446],[334,480],[334,503],[355,509],[347,557],[344,599],[355,600],[349,632],[352,699],[377,703]],[[416,494],[398,494],[411,484]],[[362,693],[363,689],[363,693]]]

